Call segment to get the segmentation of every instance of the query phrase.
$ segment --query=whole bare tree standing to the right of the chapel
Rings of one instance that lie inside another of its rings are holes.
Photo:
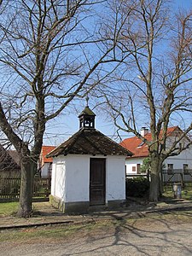
[[[192,11],[174,17],[168,3],[113,1],[111,9],[122,25],[116,54],[120,52],[124,59],[111,84],[100,88],[100,96],[110,107],[105,110],[117,128],[134,133],[148,145],[150,201],[158,201],[160,195],[163,161],[191,144],[183,138],[192,129]],[[166,148],[167,128],[172,124],[183,133]],[[141,136],[141,125],[149,126],[152,141]]]

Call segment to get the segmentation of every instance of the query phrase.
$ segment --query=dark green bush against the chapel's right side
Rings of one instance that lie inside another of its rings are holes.
[[[126,196],[145,197],[149,191],[149,181],[146,177],[126,179]]]

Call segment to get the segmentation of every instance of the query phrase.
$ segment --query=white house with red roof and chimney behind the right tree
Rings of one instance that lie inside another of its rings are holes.
[[[181,135],[178,126],[167,129],[166,148],[169,148],[177,137]],[[145,127],[141,130],[141,135],[148,141],[151,140],[151,133]],[[189,143],[189,138],[184,137],[181,142]],[[137,137],[126,138],[120,143],[121,146],[129,149],[133,155],[127,157],[125,161],[125,169],[127,174],[140,174],[143,160],[148,157],[148,146]],[[192,148],[185,149],[181,154],[170,156],[164,161],[165,172],[172,174],[172,172],[189,172],[192,171]]]

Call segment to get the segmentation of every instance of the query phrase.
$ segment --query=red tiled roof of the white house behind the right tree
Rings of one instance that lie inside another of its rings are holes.
[[[170,136],[172,134],[173,131],[178,130],[178,126],[173,126],[167,129],[167,136]],[[181,131],[179,129],[179,131]],[[152,140],[152,136],[151,133],[148,132],[147,135],[144,136],[149,142]],[[131,156],[131,158],[134,157],[147,157],[148,156],[148,146],[143,143],[143,141],[141,139],[139,139],[138,137],[129,137],[126,138],[124,141],[122,141],[120,143],[121,146],[123,146],[124,148],[127,148],[128,150],[130,150],[133,153],[133,156]]]

